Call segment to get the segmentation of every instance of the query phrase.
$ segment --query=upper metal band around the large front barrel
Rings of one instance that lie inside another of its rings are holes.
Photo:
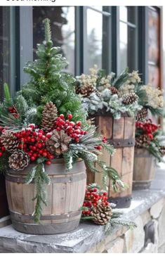
[[[81,181],[82,179],[86,179],[86,173],[81,173],[78,175],[70,175],[67,177],[50,177],[51,179],[51,184],[52,183],[67,183],[67,182],[75,182],[75,181]],[[6,180],[7,181],[12,181],[16,183],[26,183],[26,177],[17,177],[17,176],[11,176],[11,175],[6,175]],[[31,183],[34,183],[32,181]]]

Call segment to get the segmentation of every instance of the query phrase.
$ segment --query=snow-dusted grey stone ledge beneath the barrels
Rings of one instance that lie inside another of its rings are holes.
[[[154,181],[152,189],[133,191],[131,207],[122,209],[124,219],[135,220],[165,197],[165,185],[162,182],[162,186],[159,184],[159,180],[164,179],[165,172],[158,170],[157,175],[159,179]],[[127,230],[126,227],[114,226],[111,236],[106,238],[103,226],[81,223],[77,230],[70,233],[35,236],[15,231],[9,225],[0,229],[0,252],[95,252],[98,251],[98,244],[104,247],[104,244],[111,243]]]

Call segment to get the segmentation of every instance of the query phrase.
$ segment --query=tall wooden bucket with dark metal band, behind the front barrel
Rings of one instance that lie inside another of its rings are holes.
[[[129,207],[131,205],[132,181],[133,181],[133,158],[135,146],[135,119],[122,115],[119,120],[115,120],[109,113],[107,115],[95,116],[95,125],[101,130],[111,144],[114,144],[116,153],[111,157],[103,151],[100,160],[104,160],[107,166],[117,169],[122,181],[128,184],[126,190],[114,193],[112,181],[108,181],[109,200],[115,203],[118,208]],[[102,174],[93,174],[87,170],[87,183],[96,182],[101,186]]]

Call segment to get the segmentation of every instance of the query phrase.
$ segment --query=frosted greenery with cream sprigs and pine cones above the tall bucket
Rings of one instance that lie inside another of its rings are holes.
[[[148,110],[152,115],[160,115],[163,107],[163,93],[150,84],[144,85],[137,71],[128,72],[128,68],[116,77],[111,72],[98,70],[95,65],[90,75],[77,77],[75,83],[77,94],[81,95],[84,109],[89,114],[112,113],[119,119],[121,113],[137,115],[137,120],[144,120]]]

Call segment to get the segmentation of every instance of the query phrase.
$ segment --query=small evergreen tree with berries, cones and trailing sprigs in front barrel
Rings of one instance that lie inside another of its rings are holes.
[[[4,102],[0,105],[0,169],[29,172],[26,183],[35,184],[32,200],[34,222],[39,223],[46,205],[46,186],[50,179],[45,166],[62,158],[69,173],[79,158],[92,172],[103,172],[103,185],[112,179],[114,190],[124,188],[115,169],[99,160],[101,149],[112,155],[113,146],[96,127],[86,122],[81,98],[75,94],[74,77],[64,72],[67,61],[53,47],[50,21],[44,20],[45,41],[37,45],[37,60],[27,63],[24,71],[31,77],[14,98],[4,84]],[[135,103],[135,105],[137,105]],[[82,191],[83,193],[83,191]]]

